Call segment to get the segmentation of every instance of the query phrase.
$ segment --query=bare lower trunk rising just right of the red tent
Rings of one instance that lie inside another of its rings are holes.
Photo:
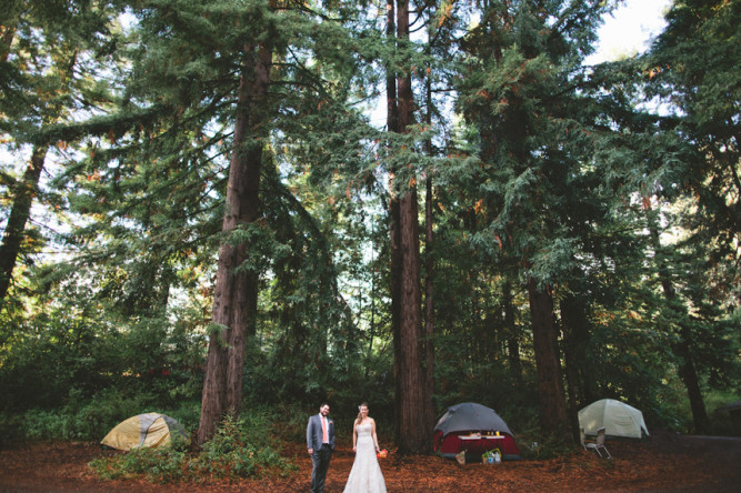
[[[561,379],[558,334],[553,323],[553,299],[547,290],[538,289],[538,282],[532,278],[528,280],[528,295],[541,424],[545,434],[565,435],[569,420]]]

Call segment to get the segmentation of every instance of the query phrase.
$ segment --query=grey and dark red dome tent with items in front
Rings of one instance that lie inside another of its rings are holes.
[[[460,453],[481,455],[499,449],[501,459],[520,459],[520,449],[504,420],[493,409],[475,402],[451,405],[438,420],[434,451],[444,457]]]

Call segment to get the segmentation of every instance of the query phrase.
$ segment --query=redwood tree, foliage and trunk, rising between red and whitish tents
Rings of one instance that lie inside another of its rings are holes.
[[[584,255],[581,217],[592,211],[584,167],[609,129],[582,67],[601,16],[614,2],[493,1],[463,49],[459,108],[477,129],[483,181],[475,247],[513,265],[527,286],[543,432],[567,437],[553,298]],[[573,204],[572,204],[573,203]],[[514,354],[514,348],[513,348]]]

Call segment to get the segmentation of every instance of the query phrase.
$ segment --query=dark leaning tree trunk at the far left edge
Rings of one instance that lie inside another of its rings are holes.
[[[39,191],[39,179],[43,171],[47,149],[46,145],[33,148],[31,161],[23,172],[23,178],[14,187],[13,205],[2,234],[2,244],[0,244],[0,303],[8,294],[13,268],[26,238],[26,224],[31,217],[33,198]]]

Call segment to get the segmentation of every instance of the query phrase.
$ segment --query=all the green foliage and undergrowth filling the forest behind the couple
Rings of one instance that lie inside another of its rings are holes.
[[[709,410],[717,389],[738,391],[739,2],[675,2],[651,53],[592,68],[582,62],[600,17],[619,2],[430,4],[429,46],[389,42],[383,12],[366,2],[133,2],[126,29],[109,22],[120,2],[47,3],[0,13],[3,29],[17,26],[0,50],[2,149],[13,153],[0,200],[12,205],[21,151],[50,144],[38,195],[50,212],[37,223],[62,224],[24,232],[22,275],[2,303],[3,442],[99,440],[152,410],[194,429],[207,341],[223,329],[210,320],[221,242],[246,245],[238,269],[260,280],[243,406],[279,406],[294,441],[324,400],[349,419],[368,401],[391,430],[387,207],[392,187],[422,175],[433,184],[423,253],[438,413],[477,400],[528,456],[564,452],[537,431],[527,278],[557,302],[570,405],[611,396],[642,409],[649,427],[691,429],[680,328]],[[238,76],[260,42],[274,48],[247,142],[262,149],[260,219],[223,238]],[[415,119],[429,112],[432,124],[390,137],[363,107],[387,68],[410,66]],[[678,110],[653,114],[653,95]],[[643,208],[655,198],[667,237],[693,234],[651,244]],[[44,245],[69,256],[29,253]],[[564,300],[579,306],[575,329]],[[271,419],[226,421],[198,456],[137,451],[96,467],[152,481],[284,467],[254,433]]]

